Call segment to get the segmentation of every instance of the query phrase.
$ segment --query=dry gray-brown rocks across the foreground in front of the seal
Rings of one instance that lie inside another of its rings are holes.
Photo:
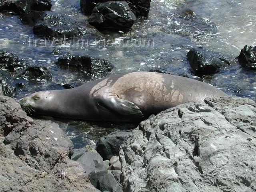
[[[0,115],[4,192],[256,189],[256,103],[248,98],[187,102],[102,137],[105,161],[90,146],[73,150],[58,124],[33,120],[12,98],[0,96]]]

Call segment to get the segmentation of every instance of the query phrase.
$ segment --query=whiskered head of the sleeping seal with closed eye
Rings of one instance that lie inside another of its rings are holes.
[[[50,91],[40,91],[19,100],[21,108],[28,114],[46,114],[51,110],[49,102],[54,98]]]

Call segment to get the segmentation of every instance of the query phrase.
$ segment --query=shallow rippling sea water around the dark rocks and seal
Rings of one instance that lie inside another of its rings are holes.
[[[52,4],[52,11],[73,17],[81,23],[88,18],[80,13],[78,0],[52,0]],[[105,47],[101,44],[28,46],[29,37],[37,38],[32,27],[23,25],[17,16],[5,16],[0,20],[0,45],[1,50],[10,51],[29,64],[46,66],[52,74],[52,81],[24,81],[25,87],[17,91],[16,99],[40,90],[60,89],[59,84],[79,86],[91,80],[79,72],[64,70],[54,64],[59,53],[68,53],[105,58],[114,65],[112,74],[165,68],[171,74],[187,75],[212,84],[227,94],[256,100],[255,71],[233,65],[216,74],[197,77],[186,60],[186,54],[192,47],[204,46],[236,57],[246,44],[256,46],[255,9],[255,0],[152,0],[149,18],[139,19],[130,32],[96,33],[82,37],[94,39],[94,44],[104,38],[113,42]],[[192,10],[198,19],[188,22],[176,16],[184,10]],[[144,40],[151,41],[151,44],[139,46],[139,42]],[[129,47],[129,42],[134,46]],[[113,130],[137,126],[43,118],[60,124],[75,148],[95,145],[100,136]]]

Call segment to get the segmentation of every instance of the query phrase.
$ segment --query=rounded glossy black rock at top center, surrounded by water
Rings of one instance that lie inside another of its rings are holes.
[[[89,23],[96,28],[130,29],[136,16],[125,1],[98,3],[89,17]]]

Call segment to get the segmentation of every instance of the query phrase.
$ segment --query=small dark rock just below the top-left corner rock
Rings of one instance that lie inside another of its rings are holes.
[[[27,11],[20,16],[20,20],[23,24],[34,26],[38,19],[44,15],[42,11]]]

